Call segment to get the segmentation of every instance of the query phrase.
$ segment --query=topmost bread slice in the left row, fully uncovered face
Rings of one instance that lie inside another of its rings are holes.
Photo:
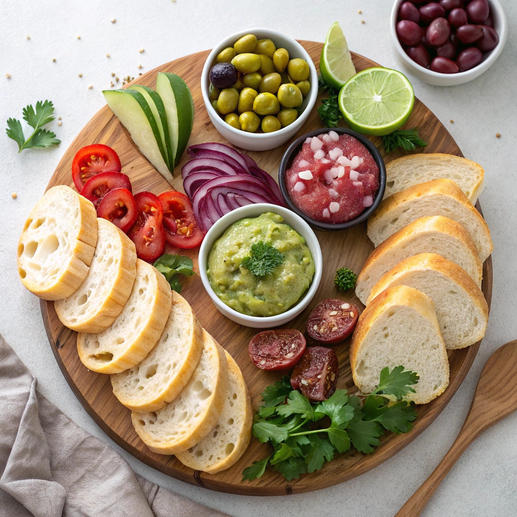
[[[49,189],[25,221],[18,274],[44,300],[70,296],[88,274],[97,244],[94,205],[66,185]]]

